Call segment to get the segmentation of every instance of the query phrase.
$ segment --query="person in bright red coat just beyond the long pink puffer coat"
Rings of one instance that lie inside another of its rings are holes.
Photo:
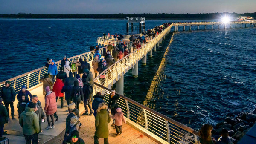
[[[63,88],[64,83],[63,81],[61,81],[61,79],[56,78],[56,82],[53,85],[52,91],[55,93],[56,95],[56,102],[58,101],[58,98],[61,98],[61,109],[64,107],[63,106],[63,96],[64,94],[61,92],[61,89]]]

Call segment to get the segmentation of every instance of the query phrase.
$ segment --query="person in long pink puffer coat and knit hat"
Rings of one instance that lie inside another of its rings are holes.
[[[57,112],[56,95],[54,92],[50,90],[49,86],[45,88],[45,91],[47,92],[47,94],[45,96],[44,112],[46,113],[47,122],[48,122],[48,127],[46,127],[46,129],[51,129],[51,128],[55,128],[53,115],[55,114],[55,112]],[[52,125],[51,125],[50,118],[52,121]]]

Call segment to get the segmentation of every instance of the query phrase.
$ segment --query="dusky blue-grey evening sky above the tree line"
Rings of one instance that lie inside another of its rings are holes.
[[[0,0],[0,14],[253,13],[256,0]]]

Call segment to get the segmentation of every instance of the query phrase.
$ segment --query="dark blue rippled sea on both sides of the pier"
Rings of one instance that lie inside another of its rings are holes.
[[[186,20],[146,20],[145,29],[170,21]],[[125,96],[196,130],[253,111],[256,28],[217,28],[170,34],[146,66],[139,63],[138,78],[125,75]],[[103,32],[125,31],[126,20],[0,19],[0,81],[44,66],[47,57],[88,52]]]

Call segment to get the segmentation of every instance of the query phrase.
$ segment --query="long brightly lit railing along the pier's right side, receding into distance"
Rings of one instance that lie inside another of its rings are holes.
[[[124,58],[118,60],[112,66],[108,67],[108,69],[103,71],[94,79],[94,82],[101,84],[105,87],[112,86],[119,78],[121,78],[122,75],[124,75],[129,69],[131,69],[138,61],[140,61],[140,59],[147,55],[147,53],[151,51],[151,49],[153,49],[157,42],[159,42],[159,40],[164,35],[166,35],[167,32],[169,32],[171,27],[172,25],[168,26],[165,30],[163,30],[163,32],[152,38],[140,49],[131,52],[129,55],[126,55]]]

